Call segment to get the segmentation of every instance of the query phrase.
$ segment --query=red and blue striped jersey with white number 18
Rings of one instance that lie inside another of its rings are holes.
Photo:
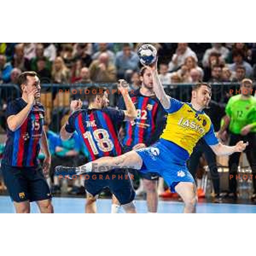
[[[118,132],[124,118],[124,111],[114,108],[84,109],[69,117],[65,129],[68,133],[77,131],[89,152],[88,160],[93,161],[122,154]]]

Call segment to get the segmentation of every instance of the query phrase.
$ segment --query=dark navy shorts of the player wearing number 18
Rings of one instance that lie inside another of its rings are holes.
[[[108,187],[120,204],[128,204],[135,198],[131,178],[126,170],[88,173],[84,178],[84,187],[93,196],[99,195],[102,189]]]

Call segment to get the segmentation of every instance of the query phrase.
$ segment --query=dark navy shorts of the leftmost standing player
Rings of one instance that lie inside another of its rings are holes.
[[[51,198],[51,192],[41,166],[14,167],[2,165],[4,183],[12,201],[41,201]]]

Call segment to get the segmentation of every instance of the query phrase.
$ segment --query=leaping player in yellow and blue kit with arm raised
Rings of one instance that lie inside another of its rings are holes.
[[[78,168],[58,166],[55,172],[80,175],[86,172],[107,172],[118,166],[158,173],[170,189],[175,190],[183,199],[184,212],[195,212],[196,185],[186,167],[186,161],[198,140],[204,137],[217,155],[244,151],[247,143],[240,141],[230,147],[218,142],[211,120],[202,111],[211,99],[211,87],[208,84],[197,84],[192,90],[191,103],[184,103],[166,95],[157,74],[156,63],[148,69],[153,76],[154,93],[168,113],[167,125],[160,140],[148,148],[140,148],[118,157],[102,157]]]

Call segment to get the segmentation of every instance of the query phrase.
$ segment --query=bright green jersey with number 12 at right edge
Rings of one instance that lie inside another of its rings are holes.
[[[256,132],[256,98],[241,99],[241,94],[233,96],[227,103],[226,113],[230,117],[229,130],[240,134],[245,125],[253,124],[251,132]]]

